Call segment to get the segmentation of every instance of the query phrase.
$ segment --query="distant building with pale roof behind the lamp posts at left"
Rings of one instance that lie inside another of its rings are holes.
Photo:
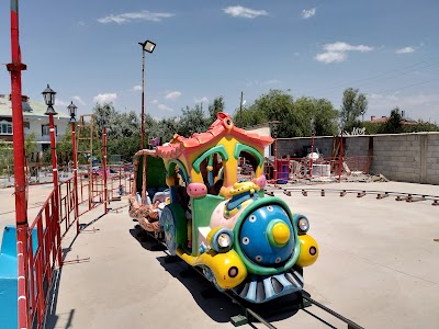
[[[48,125],[48,115],[44,113],[47,110],[46,104],[31,102],[25,95],[22,95],[23,106],[23,125],[24,137],[35,133],[37,151],[44,151],[50,148],[50,132]],[[57,139],[66,134],[67,125],[69,124],[70,116],[59,109],[55,111],[58,113],[54,116],[55,133]],[[0,94],[0,140],[5,140],[12,144],[13,127],[12,127],[12,104],[9,94]]]

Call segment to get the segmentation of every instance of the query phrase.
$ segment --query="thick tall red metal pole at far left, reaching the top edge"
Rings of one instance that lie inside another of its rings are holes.
[[[29,321],[29,263],[27,263],[27,202],[24,175],[25,149],[23,129],[23,110],[21,103],[21,71],[26,66],[21,63],[19,39],[19,1],[11,0],[11,56],[12,63],[7,65],[11,72],[11,102],[14,155],[14,195],[18,250],[18,324],[19,328],[27,328]]]

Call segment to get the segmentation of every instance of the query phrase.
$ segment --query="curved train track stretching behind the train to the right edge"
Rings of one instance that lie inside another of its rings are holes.
[[[421,193],[408,193],[408,192],[391,192],[391,191],[368,191],[368,190],[350,190],[350,189],[309,189],[309,188],[281,188],[279,185],[266,186],[264,193],[273,196],[274,192],[283,192],[285,195],[291,196],[293,193],[300,193],[303,196],[309,194],[319,194],[326,196],[327,194],[339,194],[340,197],[348,194],[356,194],[357,197],[363,197],[365,195],[376,195],[376,200],[382,200],[389,196],[394,196],[395,201],[405,202],[420,202],[431,201],[431,205],[439,206],[439,195],[421,194]]]

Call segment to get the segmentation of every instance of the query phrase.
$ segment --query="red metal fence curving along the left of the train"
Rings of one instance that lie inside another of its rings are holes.
[[[121,196],[130,193],[133,183],[132,166],[113,167],[112,170],[113,173],[106,182],[108,186],[111,186],[106,200],[103,175],[79,174],[78,194],[74,178],[60,183],[59,201],[56,202],[56,193],[52,191],[30,225],[25,238],[27,248],[18,242],[19,262],[21,262],[19,269],[24,269],[19,273],[20,324],[26,322],[29,327],[43,328],[54,271],[63,266],[61,239],[71,227],[76,227],[76,234],[79,234],[79,216],[105,202],[109,203],[114,198],[113,194]],[[78,208],[76,204],[79,205]],[[36,236],[32,234],[34,229]],[[24,299],[26,295],[27,308]]]

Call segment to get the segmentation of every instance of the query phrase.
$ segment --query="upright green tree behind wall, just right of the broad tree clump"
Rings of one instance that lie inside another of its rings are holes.
[[[340,125],[342,131],[350,132],[353,127],[362,126],[358,120],[368,111],[368,99],[358,89],[348,88],[344,91]]]

